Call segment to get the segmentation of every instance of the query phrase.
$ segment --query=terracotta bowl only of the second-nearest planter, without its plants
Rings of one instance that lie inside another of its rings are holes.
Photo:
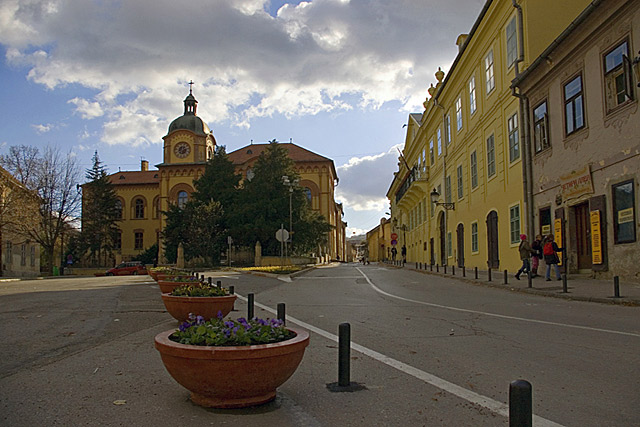
[[[162,302],[167,311],[175,319],[185,322],[189,318],[189,313],[202,316],[209,320],[222,312],[226,316],[233,310],[233,303],[236,301],[235,295],[226,295],[223,297],[177,297],[162,294]]]

